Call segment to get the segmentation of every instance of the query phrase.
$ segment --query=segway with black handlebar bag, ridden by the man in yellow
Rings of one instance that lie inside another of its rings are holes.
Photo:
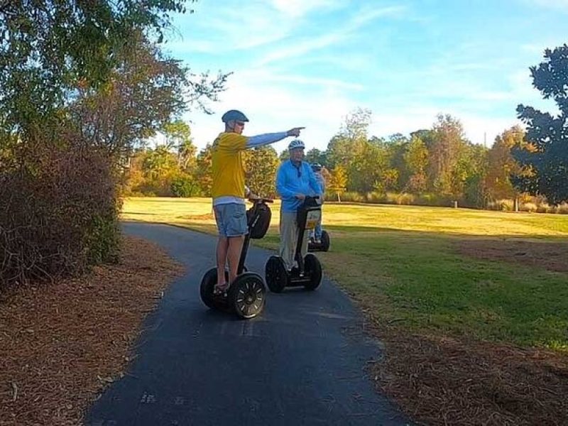
[[[217,284],[217,268],[212,268],[203,275],[200,286],[201,300],[212,309],[235,312],[241,318],[251,319],[260,315],[264,309],[266,289],[264,280],[258,273],[248,272],[244,266],[246,253],[251,239],[261,239],[266,235],[271,223],[272,212],[266,203],[267,198],[251,200],[252,207],[246,212],[249,234],[245,236],[239,266],[235,280],[229,289],[220,295],[214,293]],[[225,280],[229,280],[229,271],[225,271]]]

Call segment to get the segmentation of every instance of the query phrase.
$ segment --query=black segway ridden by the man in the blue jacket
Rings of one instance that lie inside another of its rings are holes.
[[[320,221],[322,205],[320,197],[305,197],[304,203],[297,211],[298,234],[295,261],[297,266],[288,272],[280,256],[268,258],[265,267],[265,278],[268,288],[280,293],[286,287],[301,287],[315,290],[322,283],[322,264],[312,253],[302,257],[302,240],[306,229],[312,229]]]

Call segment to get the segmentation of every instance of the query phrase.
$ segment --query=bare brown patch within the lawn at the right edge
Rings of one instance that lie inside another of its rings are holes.
[[[457,251],[489,261],[538,266],[548,271],[568,272],[568,242],[525,240],[461,240]]]

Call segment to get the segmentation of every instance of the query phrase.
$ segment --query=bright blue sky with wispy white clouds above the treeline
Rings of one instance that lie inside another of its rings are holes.
[[[568,43],[568,0],[199,0],[176,16],[165,45],[193,72],[233,72],[216,113],[192,111],[200,148],[241,109],[254,135],[305,126],[307,148],[327,148],[356,107],[370,133],[432,126],[439,113],[491,146],[519,103],[554,112],[529,67]],[[275,144],[282,151],[287,142]]]

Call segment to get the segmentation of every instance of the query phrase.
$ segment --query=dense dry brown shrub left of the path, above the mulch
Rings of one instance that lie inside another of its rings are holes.
[[[111,161],[77,141],[21,143],[0,172],[0,284],[75,275],[116,256]]]

